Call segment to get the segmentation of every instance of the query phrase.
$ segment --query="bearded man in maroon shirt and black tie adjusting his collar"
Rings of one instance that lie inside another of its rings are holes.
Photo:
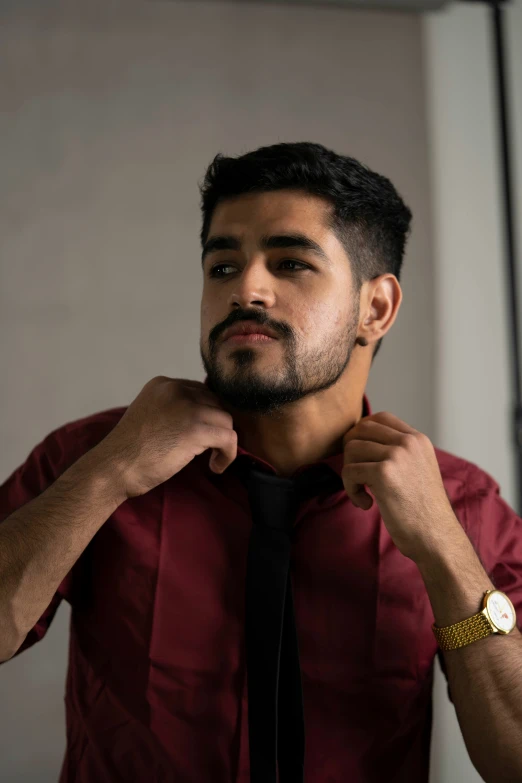
[[[307,783],[427,781],[436,654],[479,773],[521,781],[522,520],[364,392],[410,210],[312,143],[218,155],[201,191],[204,384],[153,378],[0,489],[3,660],[72,606],[60,782],[254,779],[244,465],[338,482],[292,529]]]

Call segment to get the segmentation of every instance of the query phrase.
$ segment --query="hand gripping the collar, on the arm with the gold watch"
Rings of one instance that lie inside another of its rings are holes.
[[[462,534],[427,435],[381,412],[363,417],[348,430],[343,447],[346,493],[364,510],[375,497],[403,555],[418,561],[443,547],[448,536]]]

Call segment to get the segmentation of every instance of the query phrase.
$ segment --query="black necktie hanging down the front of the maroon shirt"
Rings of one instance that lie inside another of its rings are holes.
[[[233,464],[247,487],[253,522],[245,599],[250,781],[303,783],[303,691],[290,580],[293,527],[302,500],[344,489],[343,481],[325,463],[295,479],[263,472],[244,458]]]

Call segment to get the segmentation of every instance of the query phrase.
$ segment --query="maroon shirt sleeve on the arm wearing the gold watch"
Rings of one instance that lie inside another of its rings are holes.
[[[522,629],[522,518],[500,494],[500,485],[486,471],[470,464],[465,494],[466,532],[497,590],[511,600]],[[486,588],[484,588],[484,591]],[[480,599],[477,612],[480,609]],[[442,650],[437,651],[447,680]],[[448,684],[448,698],[451,698]]]

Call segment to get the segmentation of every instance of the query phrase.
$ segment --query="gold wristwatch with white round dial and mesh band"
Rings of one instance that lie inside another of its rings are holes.
[[[507,634],[516,622],[515,607],[507,595],[500,590],[486,590],[480,612],[444,628],[435,624],[431,627],[441,650],[456,650],[492,633]]]

